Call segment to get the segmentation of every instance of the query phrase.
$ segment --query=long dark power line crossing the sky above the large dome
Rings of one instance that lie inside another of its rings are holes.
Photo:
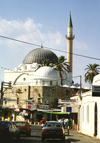
[[[5,39],[9,39],[9,40],[13,40],[13,41],[16,41],[16,42],[21,42],[21,43],[24,43],[24,44],[29,44],[29,45],[34,45],[34,46],[37,46],[37,47],[41,47],[40,45],[37,45],[37,44],[34,44],[34,43],[25,42],[25,41],[13,39],[13,38],[2,36],[2,35],[0,35],[0,37],[5,38]],[[57,49],[50,48],[50,47],[45,47],[45,46],[43,46],[43,47],[46,48],[46,49],[51,49],[51,50],[55,50],[55,51],[59,51],[59,52],[63,52],[63,53],[68,53],[68,52],[63,51],[63,50],[57,50]],[[94,57],[90,57],[90,56],[85,56],[85,55],[80,55],[80,54],[75,54],[75,53],[70,53],[70,54],[80,56],[80,57],[84,57],[84,58],[100,60],[99,58],[94,58]]]

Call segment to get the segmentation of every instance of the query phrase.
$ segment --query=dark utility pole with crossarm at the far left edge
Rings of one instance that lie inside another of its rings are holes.
[[[1,82],[1,98],[0,98],[0,120],[2,120],[2,105],[3,105],[3,96],[4,96],[4,91],[3,88],[11,88],[11,82]]]

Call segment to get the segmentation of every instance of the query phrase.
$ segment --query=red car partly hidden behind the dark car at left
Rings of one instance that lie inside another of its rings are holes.
[[[26,134],[26,136],[31,135],[31,127],[26,121],[14,121],[16,126],[20,129],[20,134]]]

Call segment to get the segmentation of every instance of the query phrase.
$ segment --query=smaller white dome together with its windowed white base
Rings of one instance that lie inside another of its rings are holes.
[[[53,68],[44,66],[35,73],[31,85],[33,86],[60,86],[61,80],[59,73]]]

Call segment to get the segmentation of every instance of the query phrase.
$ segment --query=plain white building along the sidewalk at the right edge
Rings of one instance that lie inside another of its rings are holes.
[[[79,131],[100,139],[100,74],[94,77],[93,85],[98,88],[98,95],[92,96],[92,90],[82,93],[79,100]]]

